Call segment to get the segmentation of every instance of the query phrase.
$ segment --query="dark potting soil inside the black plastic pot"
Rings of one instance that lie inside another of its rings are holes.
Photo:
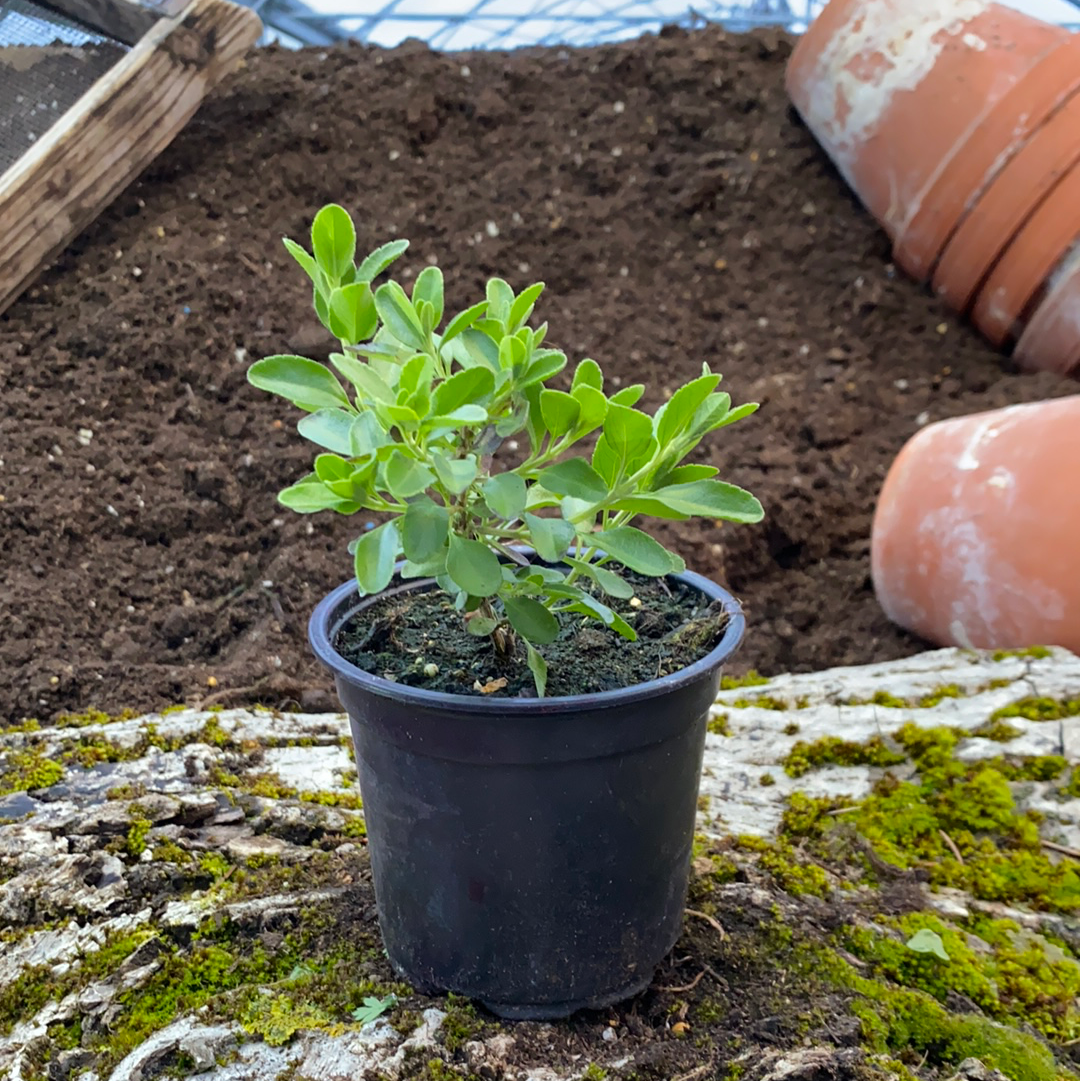
[[[675,579],[626,578],[632,599],[597,596],[634,627],[637,640],[596,619],[561,613],[559,636],[539,646],[548,665],[548,697],[659,679],[699,660],[723,637],[726,613],[696,589]],[[462,613],[438,590],[376,601],[345,624],[334,648],[358,668],[409,686],[501,698],[536,694],[522,642],[508,655],[498,654],[491,638],[466,630]]]

